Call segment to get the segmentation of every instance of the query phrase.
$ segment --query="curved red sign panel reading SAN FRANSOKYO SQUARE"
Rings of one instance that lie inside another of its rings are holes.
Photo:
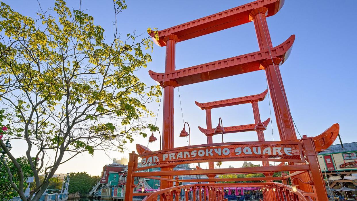
[[[300,155],[296,145],[226,145],[214,147],[200,147],[185,150],[175,150],[172,152],[162,152],[142,157],[141,165],[160,164],[161,162],[177,162],[205,159],[224,159],[239,157],[282,157]]]

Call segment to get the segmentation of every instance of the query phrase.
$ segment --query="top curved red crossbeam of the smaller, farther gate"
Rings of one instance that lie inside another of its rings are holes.
[[[205,109],[205,107],[210,107],[212,108],[218,108],[218,107],[227,107],[227,106],[232,106],[232,105],[240,105],[240,104],[246,104],[250,103],[252,100],[258,100],[262,101],[265,99],[265,96],[268,94],[268,90],[265,90],[264,92],[256,95],[251,95],[251,96],[243,96],[243,97],[238,97],[238,98],[233,98],[233,99],[226,99],[226,100],[219,100],[219,101],[212,101],[212,102],[205,102],[205,103],[200,103],[195,101],[196,105],[200,107],[202,110]]]

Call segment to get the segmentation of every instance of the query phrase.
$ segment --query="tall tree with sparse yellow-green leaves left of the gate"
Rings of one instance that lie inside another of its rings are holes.
[[[146,104],[157,101],[160,86],[136,76],[151,61],[152,41],[136,32],[121,35],[117,17],[127,6],[125,0],[113,3],[110,37],[64,0],[39,7],[35,18],[0,3],[0,123],[9,128],[4,137],[27,144],[36,184],[29,198],[22,191],[23,167],[1,140],[0,146],[17,169],[19,183],[10,185],[22,200],[39,200],[59,165],[78,154],[120,151],[134,135],[157,130],[145,117],[153,115]]]

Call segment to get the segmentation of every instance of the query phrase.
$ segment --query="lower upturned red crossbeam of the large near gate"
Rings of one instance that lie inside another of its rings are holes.
[[[250,54],[231,57],[219,61],[188,67],[185,69],[171,71],[169,73],[157,73],[149,70],[152,79],[162,85],[183,86],[207,80],[228,77],[261,70],[263,61],[270,61],[271,58],[279,57],[282,59],[280,64],[288,58],[291,47],[295,40],[295,35],[290,36],[282,44],[270,50],[261,50]],[[271,53],[271,55],[270,55]],[[165,76],[165,78],[164,78]]]

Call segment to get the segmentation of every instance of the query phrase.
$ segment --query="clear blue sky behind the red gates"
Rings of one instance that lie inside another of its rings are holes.
[[[42,8],[53,7],[52,0],[39,0]],[[4,0],[20,13],[35,17],[38,3],[35,0]],[[166,29],[203,16],[214,14],[239,5],[242,1],[181,0],[181,1],[127,1],[128,9],[119,15],[119,29],[123,35],[136,30],[145,33],[147,27]],[[77,8],[79,0],[68,1],[69,7]],[[301,135],[316,136],[334,123],[340,124],[343,142],[356,141],[355,124],[357,121],[357,65],[356,65],[356,7],[357,1],[292,1],[286,0],[282,9],[267,22],[273,46],[281,44],[290,35],[296,40],[288,60],[280,67],[290,110]],[[95,23],[104,27],[107,37],[112,33],[112,0],[82,0],[82,9],[94,16]],[[210,35],[179,42],[176,45],[176,69],[225,59],[232,56],[258,51],[253,23],[226,29]],[[165,47],[154,47],[153,61],[147,69],[139,72],[140,78],[148,85],[155,85],[147,74],[148,70],[164,72]],[[219,80],[200,82],[180,87],[183,117],[191,126],[191,144],[203,144],[205,136],[197,126],[206,127],[205,112],[198,109],[194,101],[208,102],[232,97],[258,94],[267,88],[265,72],[226,77]],[[187,145],[186,139],[179,139],[182,117],[177,89],[175,90],[175,146]],[[219,94],[220,96],[217,96]],[[268,99],[260,102],[262,120],[270,117]],[[157,111],[158,104],[149,106]],[[272,109],[272,108],[271,108]],[[272,122],[265,131],[266,140],[278,140],[274,112]],[[224,126],[251,124],[254,122],[250,104],[231,106],[212,110],[213,126],[222,117]],[[162,108],[157,125],[162,125]],[[272,130],[273,128],[273,134]],[[220,142],[220,136],[214,137]],[[255,141],[256,133],[226,134],[225,141]],[[128,145],[147,145],[147,138],[137,138]],[[156,143],[156,144],[155,144]],[[149,145],[156,150],[158,142]],[[15,145],[16,146],[16,145]],[[17,149],[20,154],[21,148]],[[15,151],[15,149],[14,149]],[[127,156],[111,152],[110,156]],[[95,160],[94,167],[74,167],[74,164]],[[103,153],[80,156],[75,162],[60,167],[59,172],[87,171],[100,174],[102,166],[109,163]],[[228,164],[226,164],[228,166]],[[239,166],[236,165],[237,167]],[[223,163],[222,167],[225,167]]]

